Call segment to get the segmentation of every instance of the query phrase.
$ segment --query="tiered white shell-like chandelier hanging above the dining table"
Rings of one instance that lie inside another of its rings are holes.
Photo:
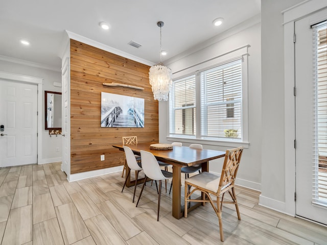
[[[149,80],[154,100],[168,101],[169,90],[172,86],[172,70],[161,62],[161,27],[164,26],[164,22],[159,21],[157,26],[160,27],[160,63],[150,68]]]

